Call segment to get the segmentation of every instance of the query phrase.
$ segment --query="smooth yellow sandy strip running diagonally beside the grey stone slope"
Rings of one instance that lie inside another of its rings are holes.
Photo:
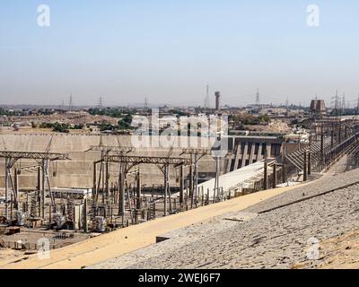
[[[22,261],[17,258],[16,263],[13,263],[13,260],[3,260],[0,261],[0,268],[82,268],[83,266],[96,265],[127,252],[147,247],[155,243],[157,236],[171,230],[206,221],[223,213],[241,211],[296,187],[281,187],[241,196],[186,213],[179,213],[140,225],[130,226],[127,229],[116,230],[66,248],[51,251],[50,259],[46,260],[39,260],[37,256],[31,256]]]

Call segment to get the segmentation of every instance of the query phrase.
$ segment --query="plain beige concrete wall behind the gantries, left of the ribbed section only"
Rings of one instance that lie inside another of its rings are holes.
[[[7,150],[23,151],[23,152],[44,152],[51,135],[36,134],[13,134],[3,135]],[[92,187],[92,169],[93,161],[100,159],[100,152],[85,152],[90,149],[91,145],[100,143],[100,135],[54,135],[50,152],[68,152],[71,161],[51,162],[49,166],[51,175],[51,185],[53,187]],[[103,135],[102,142],[104,145],[118,146],[118,140],[123,146],[131,145],[130,135]],[[180,138],[179,138],[180,140]],[[183,139],[182,139],[183,140]],[[0,150],[4,150],[4,145],[0,141]],[[181,148],[175,148],[172,156],[180,156]],[[147,156],[166,156],[168,149],[158,148],[142,148],[136,150],[136,155]],[[135,153],[131,153],[134,154]],[[36,161],[18,161],[15,167],[24,167],[35,164]],[[222,162],[222,170],[224,170],[224,162]],[[186,169],[188,170],[188,169]],[[163,178],[160,170],[154,165],[141,165],[143,174],[143,184],[151,187],[154,185],[162,185]],[[201,173],[214,173],[215,161],[211,156],[204,157],[199,163],[199,171]],[[54,172],[56,174],[54,174]],[[110,166],[112,177],[110,182],[118,181],[118,166],[113,164]],[[179,185],[177,179],[180,176],[179,170],[171,169],[171,185]],[[34,188],[36,186],[36,172],[23,171],[19,176],[21,188]],[[132,177],[128,177],[131,182]],[[0,188],[4,187],[4,159],[0,160]]]

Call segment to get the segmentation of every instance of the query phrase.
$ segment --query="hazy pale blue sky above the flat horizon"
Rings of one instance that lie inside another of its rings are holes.
[[[38,25],[38,5],[50,27]],[[320,6],[320,27],[307,6]],[[357,0],[1,0],[0,104],[309,105],[359,93]]]

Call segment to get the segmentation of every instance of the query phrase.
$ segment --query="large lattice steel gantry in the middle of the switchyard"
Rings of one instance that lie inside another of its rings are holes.
[[[130,202],[130,195],[127,187],[127,175],[135,174],[136,175],[136,213],[142,211],[142,175],[140,171],[140,166],[145,165],[155,165],[157,166],[163,174],[164,182],[164,211],[163,215],[166,216],[168,213],[173,212],[171,205],[171,185],[170,185],[170,166],[175,169],[180,168],[180,204],[183,204],[183,189],[184,189],[184,167],[192,166],[191,159],[173,157],[171,156],[172,148],[166,156],[134,156],[129,154],[135,149],[133,147],[121,146],[118,140],[118,146],[104,145],[102,143],[102,136],[99,145],[92,145],[90,149],[86,152],[101,152],[101,158],[98,161],[93,162],[93,200],[92,204],[97,205],[98,196],[102,192],[102,205],[104,203],[104,193],[109,195],[109,165],[118,164],[118,195],[115,196],[118,200],[118,216],[122,218],[122,225],[125,225],[125,215],[126,215],[126,197],[128,209],[131,212],[132,216],[132,204]],[[100,164],[100,173],[98,176],[97,165]],[[135,169],[136,168],[136,169]],[[168,208],[168,202],[169,207]],[[94,206],[96,207],[96,206]]]

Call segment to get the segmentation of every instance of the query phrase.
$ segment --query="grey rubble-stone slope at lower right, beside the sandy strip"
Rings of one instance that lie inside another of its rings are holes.
[[[293,200],[339,189],[276,210]],[[325,177],[250,207],[168,234],[168,239],[94,268],[311,268],[325,259],[307,258],[311,238],[342,236],[359,228],[359,170]],[[226,219],[237,218],[239,221]]]

